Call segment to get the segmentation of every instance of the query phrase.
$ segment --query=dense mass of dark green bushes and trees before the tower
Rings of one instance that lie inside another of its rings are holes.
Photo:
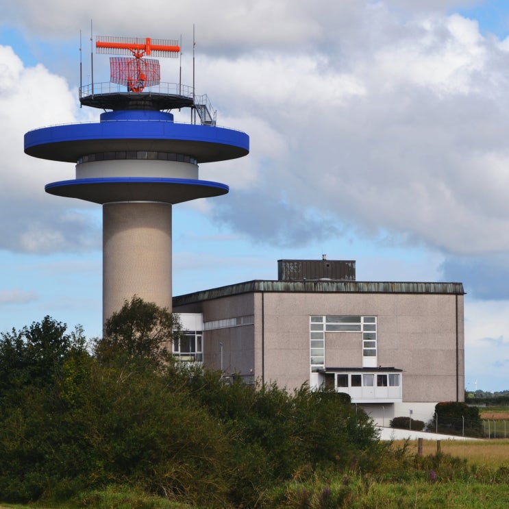
[[[134,297],[92,343],[49,316],[1,334],[1,500],[79,505],[130,486],[249,508],[284,482],[379,461],[371,420],[342,395],[227,384],[173,361],[179,333],[173,315]]]

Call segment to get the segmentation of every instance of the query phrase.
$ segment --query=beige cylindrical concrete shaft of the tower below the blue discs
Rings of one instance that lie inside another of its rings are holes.
[[[103,323],[133,295],[171,311],[171,204],[103,205]]]

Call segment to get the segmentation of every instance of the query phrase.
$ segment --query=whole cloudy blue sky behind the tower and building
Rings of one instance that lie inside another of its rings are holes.
[[[502,0],[0,0],[0,331],[49,314],[101,334],[100,207],[45,193],[74,165],[23,135],[99,120],[78,100],[91,32],[182,38],[192,84],[193,29],[197,93],[251,151],[200,166],[228,195],[173,208],[173,295],[323,254],[359,281],[462,282],[466,388],[509,389]],[[108,67],[94,55],[95,82]],[[179,60],[161,69],[178,81]]]

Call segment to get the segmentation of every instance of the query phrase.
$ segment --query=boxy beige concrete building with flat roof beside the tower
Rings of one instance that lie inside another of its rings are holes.
[[[334,386],[381,425],[464,400],[462,284],[358,282],[353,261],[278,268],[277,281],[174,297],[190,330],[175,353],[247,382]]]

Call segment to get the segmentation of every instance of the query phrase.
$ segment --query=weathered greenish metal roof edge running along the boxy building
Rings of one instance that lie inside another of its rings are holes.
[[[201,290],[173,297],[173,306],[221,299],[243,293],[413,293],[464,295],[462,283],[423,283],[423,282],[366,282],[366,281],[266,281],[253,280],[230,284],[210,290]]]

